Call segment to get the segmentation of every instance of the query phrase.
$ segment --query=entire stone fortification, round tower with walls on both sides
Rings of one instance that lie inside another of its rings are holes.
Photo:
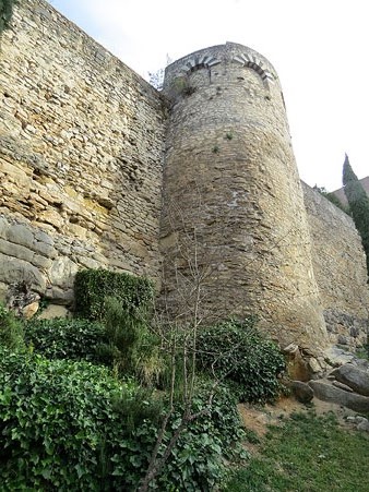
[[[358,235],[302,197],[279,82],[255,51],[184,57],[162,95],[31,0],[1,39],[0,99],[1,298],[25,281],[68,304],[79,268],[159,281],[163,260],[172,305],[198,272],[202,315],[257,312],[282,344],[314,350],[364,333]]]

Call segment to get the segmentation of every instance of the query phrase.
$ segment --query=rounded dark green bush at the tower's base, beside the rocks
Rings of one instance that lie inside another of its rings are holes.
[[[255,319],[229,320],[199,333],[197,350],[203,369],[239,385],[246,401],[267,401],[281,391],[285,360],[276,345],[255,328]]]

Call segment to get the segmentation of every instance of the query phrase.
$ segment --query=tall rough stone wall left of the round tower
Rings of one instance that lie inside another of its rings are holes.
[[[138,74],[41,0],[0,57],[0,281],[56,302],[81,267],[158,276],[165,108]]]

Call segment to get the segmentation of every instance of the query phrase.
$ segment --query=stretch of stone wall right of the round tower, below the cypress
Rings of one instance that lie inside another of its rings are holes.
[[[366,259],[353,219],[302,183],[312,261],[332,343],[366,343],[369,292]]]

